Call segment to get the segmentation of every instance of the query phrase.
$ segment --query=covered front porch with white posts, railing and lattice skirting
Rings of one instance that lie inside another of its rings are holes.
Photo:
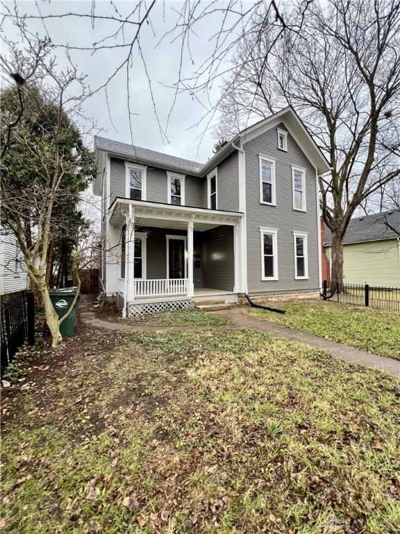
[[[241,291],[242,214],[119,200],[110,223],[124,234],[124,309],[151,302],[224,298]],[[129,313],[129,312],[128,312]]]

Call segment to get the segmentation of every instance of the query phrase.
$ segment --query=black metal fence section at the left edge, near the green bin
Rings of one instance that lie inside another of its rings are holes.
[[[33,293],[19,291],[1,298],[1,376],[25,340],[35,343]]]

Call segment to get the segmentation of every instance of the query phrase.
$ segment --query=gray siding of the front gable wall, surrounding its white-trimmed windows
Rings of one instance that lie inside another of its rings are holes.
[[[285,129],[283,124],[278,126]],[[319,286],[318,229],[315,168],[288,134],[288,152],[277,147],[276,128],[244,144],[246,152],[247,282],[253,293],[309,291]],[[276,207],[260,204],[258,154],[276,159]],[[295,211],[292,202],[292,168],[306,168],[307,211]],[[261,280],[259,227],[278,229],[277,281]],[[293,231],[308,232],[308,280],[294,280]]]

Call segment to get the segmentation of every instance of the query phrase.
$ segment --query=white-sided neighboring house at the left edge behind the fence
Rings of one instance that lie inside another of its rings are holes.
[[[12,232],[0,231],[0,295],[28,289],[29,278],[22,252]]]

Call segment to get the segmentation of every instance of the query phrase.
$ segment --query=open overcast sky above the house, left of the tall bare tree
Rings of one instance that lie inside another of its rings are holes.
[[[17,2],[19,15],[23,13],[38,15],[39,10],[42,15],[55,15],[60,13],[90,13],[92,3],[90,1],[47,1]],[[135,4],[132,1],[117,1],[115,7],[119,13],[126,17],[131,12]],[[10,6],[10,4],[8,4]],[[174,90],[165,86],[172,86],[178,78],[179,58],[181,54],[181,42],[172,42],[172,38],[166,38],[162,44],[156,46],[161,36],[175,27],[177,11],[181,10],[183,3],[172,1],[158,1],[151,11],[151,25],[144,26],[141,46],[146,60],[147,70],[152,82],[156,108],[163,127],[167,123],[167,113],[174,99]],[[115,8],[110,1],[98,1],[96,13],[102,15],[115,14]],[[188,76],[194,72],[195,68],[206,60],[213,51],[215,38],[213,35],[221,24],[218,13],[205,17],[195,28],[196,33],[190,35],[192,59],[190,60],[188,50],[184,49],[183,73]],[[78,17],[66,17],[63,19],[47,19],[45,25],[42,20],[29,20],[28,28],[40,35],[49,34],[55,44],[70,44],[77,47],[90,47],[94,42],[99,42],[101,38],[113,33],[119,25],[114,22],[97,21],[92,27],[91,19],[81,19]],[[3,25],[3,31],[9,37],[18,40],[18,35],[10,23]],[[135,26],[126,28],[126,42],[130,35],[136,31]],[[153,31],[156,35],[153,34]],[[109,41],[111,44],[121,43],[122,35],[119,34],[115,40]],[[60,67],[65,65],[65,53],[63,49],[56,49],[56,56]],[[92,55],[91,51],[72,51],[72,58],[77,63],[80,70],[88,74],[88,82],[91,88],[100,86],[113,72],[116,65],[126,56],[126,49],[119,48],[113,50],[103,50]],[[226,63],[227,65],[227,63]],[[220,70],[224,69],[224,65]],[[132,118],[133,122],[133,142],[136,145],[167,152],[175,156],[192,159],[195,161],[206,161],[212,155],[215,138],[213,131],[208,129],[203,139],[198,136],[205,131],[207,121],[203,121],[201,126],[194,127],[203,115],[212,107],[219,96],[219,81],[216,81],[210,89],[211,102],[207,95],[198,95],[197,99],[192,99],[187,93],[178,95],[174,111],[169,120],[167,136],[168,143],[163,143],[160,134],[156,115],[153,110],[149,84],[144,67],[138,53],[133,56],[133,64],[130,70],[131,83],[131,106],[132,111],[138,113]],[[131,133],[128,123],[128,113],[126,104],[126,70],[122,70],[110,83],[108,88],[108,98],[110,102],[110,114],[115,128],[108,116],[106,97],[104,92],[99,92],[85,104],[85,113],[97,120],[99,128],[103,129],[101,135],[120,140],[124,143],[131,143]],[[210,117],[208,117],[210,118]],[[213,121],[217,120],[217,117]]]

